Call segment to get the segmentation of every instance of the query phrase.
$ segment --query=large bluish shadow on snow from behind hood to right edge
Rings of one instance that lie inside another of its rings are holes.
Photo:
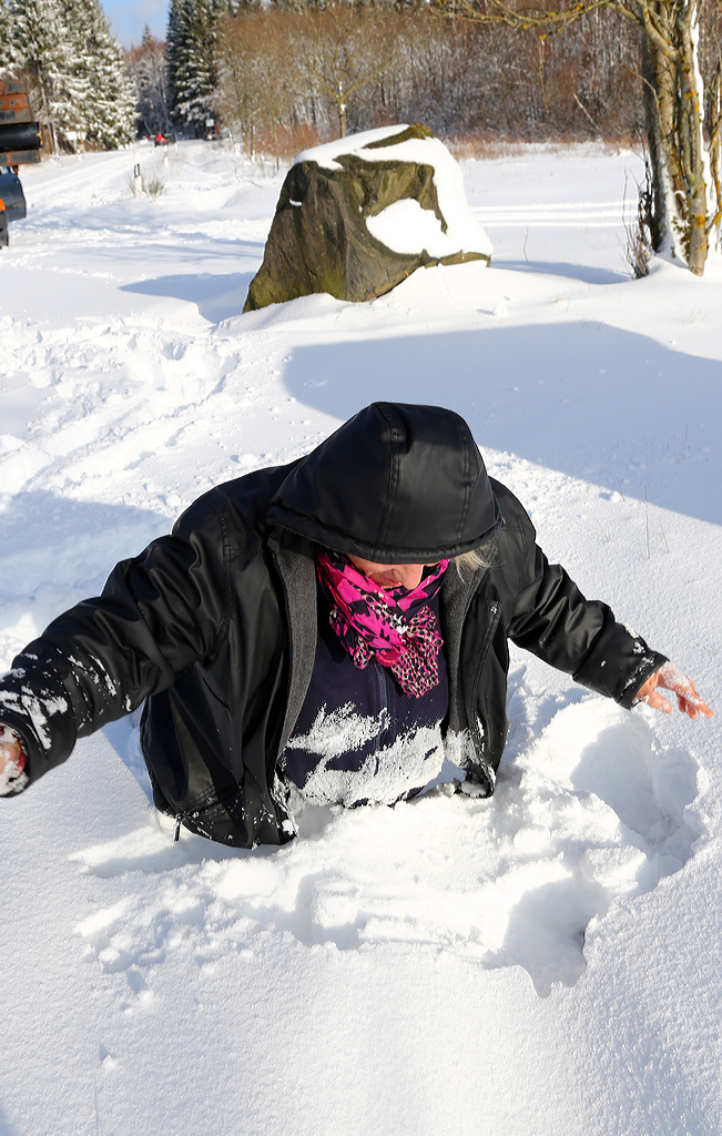
[[[722,524],[720,364],[646,335],[582,321],[301,345],[285,382],[341,420],[377,399],[443,403],[482,452]]]

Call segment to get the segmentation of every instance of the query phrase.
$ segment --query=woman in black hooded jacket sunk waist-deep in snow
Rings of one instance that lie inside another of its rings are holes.
[[[375,403],[305,458],[219,485],[116,566],[0,682],[0,792],[144,702],[156,804],[247,847],[297,799],[392,803],[444,753],[494,792],[507,640],[629,708],[712,711],[588,601],[489,478],[468,425]]]

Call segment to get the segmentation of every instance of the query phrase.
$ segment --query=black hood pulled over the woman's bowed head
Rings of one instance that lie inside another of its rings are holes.
[[[373,402],[301,459],[267,520],[377,563],[421,563],[484,544],[501,515],[463,418]]]

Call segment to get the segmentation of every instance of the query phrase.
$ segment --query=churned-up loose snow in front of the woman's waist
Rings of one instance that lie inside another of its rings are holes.
[[[136,734],[128,735],[137,770]],[[442,785],[393,809],[308,807],[280,850],[171,840],[152,816],[74,859],[126,878],[121,901],[81,925],[103,970],[152,987],[174,951],[199,964],[254,952],[259,936],[310,949],[396,942],[484,968],[523,967],[537,993],[573,985],[585,929],[618,896],[650,891],[691,854],[694,759],[661,749],[640,717],[591,699],[561,710],[489,801]],[[154,883],[153,883],[154,880]]]

